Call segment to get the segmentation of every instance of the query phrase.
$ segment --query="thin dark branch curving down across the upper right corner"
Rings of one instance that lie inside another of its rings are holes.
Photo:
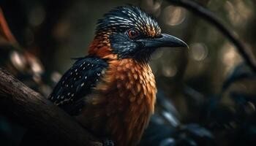
[[[199,15],[201,18],[206,20],[211,25],[215,26],[223,35],[225,35],[233,45],[236,46],[238,52],[244,58],[244,61],[248,66],[252,69],[252,71],[256,72],[256,59],[254,55],[252,55],[252,51],[246,48],[229,29],[224,26],[219,18],[217,18],[214,13],[205,7],[200,6],[192,0],[168,0],[171,4],[176,6],[184,7],[189,11]]]

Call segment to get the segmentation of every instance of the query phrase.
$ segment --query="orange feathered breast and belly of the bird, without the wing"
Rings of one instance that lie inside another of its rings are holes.
[[[137,145],[154,112],[154,74],[148,64],[129,58],[109,64],[82,116],[91,119],[86,127],[108,135],[116,145]]]

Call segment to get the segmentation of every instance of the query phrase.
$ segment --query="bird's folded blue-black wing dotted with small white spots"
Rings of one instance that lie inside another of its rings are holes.
[[[70,115],[78,114],[83,97],[91,93],[108,64],[101,58],[79,58],[58,82],[50,94],[50,101]]]

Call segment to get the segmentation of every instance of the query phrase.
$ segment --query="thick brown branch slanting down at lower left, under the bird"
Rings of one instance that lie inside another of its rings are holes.
[[[60,145],[102,145],[45,97],[0,68],[0,111]]]

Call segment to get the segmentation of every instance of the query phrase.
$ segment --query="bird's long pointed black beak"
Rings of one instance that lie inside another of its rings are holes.
[[[184,41],[169,34],[162,34],[157,38],[139,39],[143,47],[189,47]]]

